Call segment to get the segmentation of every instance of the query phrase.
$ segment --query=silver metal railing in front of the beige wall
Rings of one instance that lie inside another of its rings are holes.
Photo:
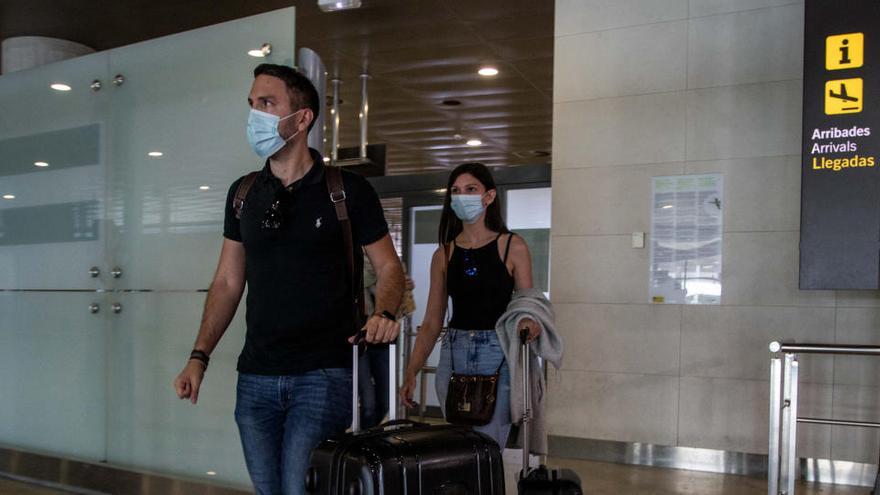
[[[768,495],[794,495],[797,479],[797,424],[822,424],[880,428],[880,423],[831,418],[807,418],[797,415],[798,354],[834,354],[880,356],[880,346],[781,344],[772,342],[770,352],[783,358],[770,359],[770,447],[767,465]]]

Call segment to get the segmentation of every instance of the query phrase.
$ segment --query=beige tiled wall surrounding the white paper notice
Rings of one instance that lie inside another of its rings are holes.
[[[550,434],[767,451],[767,344],[880,343],[875,292],[798,290],[803,2],[557,0]],[[651,178],[724,175],[721,306],[648,304]],[[802,357],[801,414],[880,420],[880,363]],[[874,432],[802,456],[875,463]]]

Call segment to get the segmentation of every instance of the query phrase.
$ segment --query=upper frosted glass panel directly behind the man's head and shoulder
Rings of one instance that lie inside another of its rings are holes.
[[[229,185],[263,166],[245,138],[253,69],[293,64],[293,25],[289,8],[110,52],[125,78],[111,119],[115,287],[209,285]],[[263,43],[269,57],[248,56]]]

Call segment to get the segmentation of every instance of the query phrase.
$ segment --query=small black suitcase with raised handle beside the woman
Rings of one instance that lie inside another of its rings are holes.
[[[529,422],[531,421],[531,400],[529,399],[529,342],[528,330],[520,334],[523,373],[523,468],[517,481],[519,495],[583,495],[581,479],[571,469],[551,469],[541,465],[529,468]]]

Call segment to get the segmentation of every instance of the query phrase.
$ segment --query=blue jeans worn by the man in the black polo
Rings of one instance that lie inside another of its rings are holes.
[[[351,425],[351,370],[240,373],[235,422],[257,495],[302,495],[309,457]]]

